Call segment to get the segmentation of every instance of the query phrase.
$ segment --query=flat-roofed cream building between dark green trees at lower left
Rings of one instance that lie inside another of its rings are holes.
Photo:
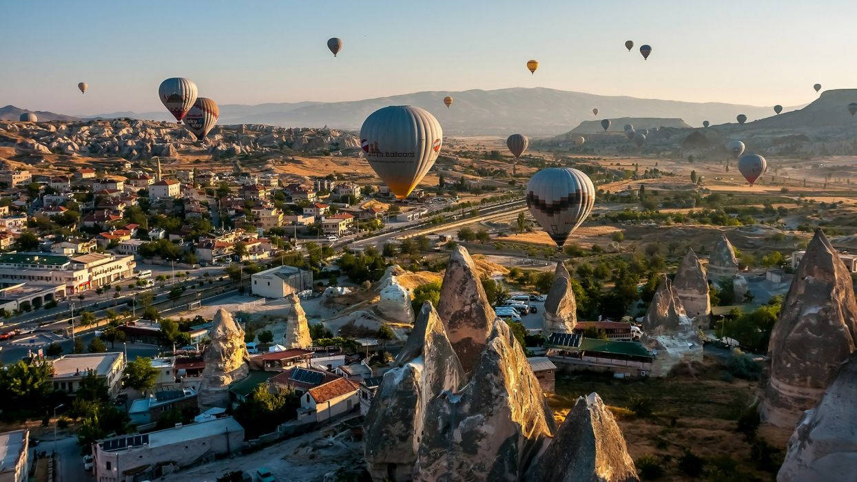
[[[94,372],[107,384],[110,396],[117,396],[122,388],[122,372],[125,369],[125,355],[122,352],[93,354],[64,354],[51,361],[53,366],[54,390],[74,395],[81,380],[87,373]]]

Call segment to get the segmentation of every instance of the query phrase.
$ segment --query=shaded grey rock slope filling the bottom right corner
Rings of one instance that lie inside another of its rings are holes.
[[[857,352],[839,370],[836,380],[800,419],[788,440],[778,482],[854,480],[857,473]]]

